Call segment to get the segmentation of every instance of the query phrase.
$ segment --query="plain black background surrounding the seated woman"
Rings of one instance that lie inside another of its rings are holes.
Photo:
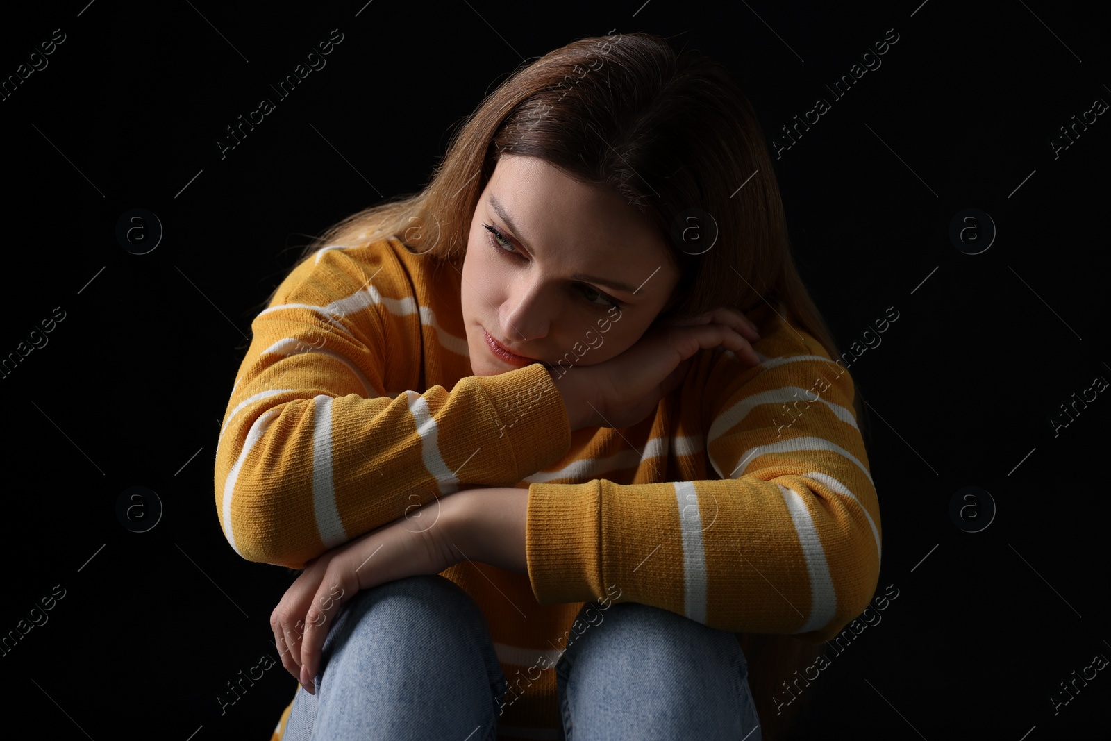
[[[66,590],[0,658],[11,712],[43,738],[269,738],[296,690],[280,664],[224,714],[216,700],[277,657],[268,618],[290,583],[240,559],[214,508],[217,434],[250,322],[311,236],[420,190],[452,127],[523,60],[612,30],[722,61],[769,139],[830,100],[775,162],[800,269],[842,350],[899,312],[852,367],[873,430],[878,591],[899,597],[808,690],[804,735],[1105,737],[1108,670],[1057,714],[1049,698],[1111,658],[1111,400],[1099,394],[1057,437],[1050,418],[1111,380],[1111,122],[1100,116],[1057,157],[1050,139],[1094,99],[1111,102],[1108,26],[1089,3],[919,1],[6,9],[4,78],[66,34],[0,102],[12,291],[0,353],[56,307],[66,317],[0,379],[0,633]],[[327,67],[221,159],[224,128],[274,98],[269,83],[332,29],[343,41]],[[833,101],[823,84],[888,29],[899,40],[882,66]],[[116,239],[132,208],[164,229],[147,254]],[[998,229],[979,254],[949,238],[967,208]],[[164,507],[148,532],[117,519],[132,485]],[[981,532],[950,518],[965,485],[998,508]]]

